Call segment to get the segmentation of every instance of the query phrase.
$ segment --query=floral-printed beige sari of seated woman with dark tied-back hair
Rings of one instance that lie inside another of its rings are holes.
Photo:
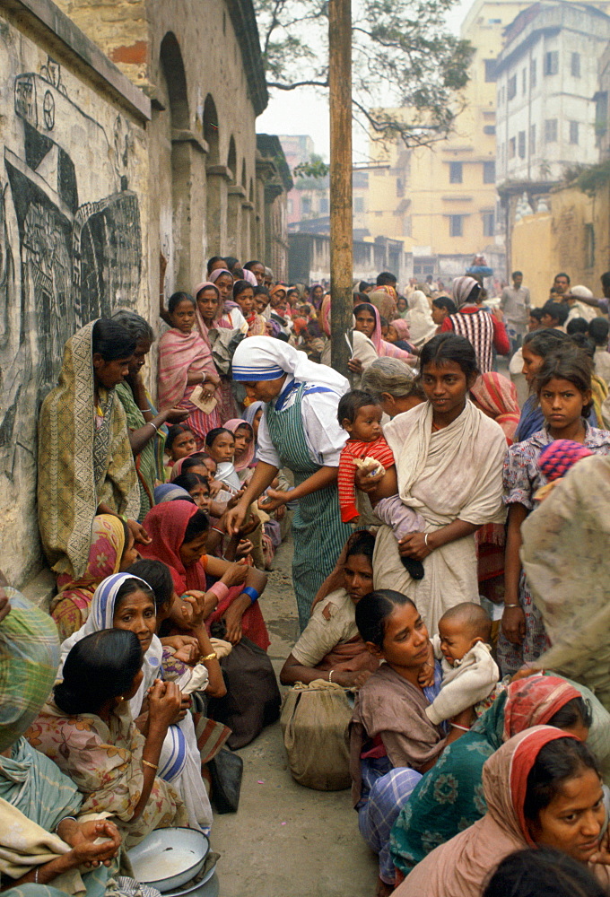
[[[49,701],[27,734],[74,781],[84,797],[83,813],[109,813],[132,847],[153,829],[187,825],[187,812],[169,782],[154,779],[142,813],[132,822],[144,784],[144,736],[124,701],[108,724],[92,713],[67,716]]]

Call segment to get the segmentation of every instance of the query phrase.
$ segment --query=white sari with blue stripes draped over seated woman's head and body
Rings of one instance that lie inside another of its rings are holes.
[[[99,632],[102,629],[130,628],[128,625],[115,626],[115,615],[118,612],[121,600],[128,594],[132,594],[134,591],[133,587],[137,588],[138,584],[144,595],[151,597],[154,608],[153,590],[144,579],[129,573],[116,573],[100,583],[98,588],[95,589],[87,622],[81,629],[74,632],[74,635],[71,635],[69,639],[62,643],[61,661],[57,674],[59,678],[61,678],[65,658],[67,658],[70,649],[73,648],[77,641],[80,641],[92,632]],[[129,586],[132,588],[130,589]],[[135,634],[138,635],[138,632]],[[131,715],[134,719],[142,712],[142,705],[149,687],[155,679],[162,678],[162,657],[161,641],[153,634],[150,646],[144,652],[142,665],[144,678],[142,684],[134,697],[129,701]],[[199,669],[199,666],[197,666],[197,669]],[[205,687],[205,683],[200,683],[199,687]],[[207,834],[212,825],[212,808],[203,779],[201,778],[201,756],[197,748],[195,726],[190,713],[187,712],[187,715],[180,719],[179,723],[168,728],[168,734],[165,736],[161,750],[157,775],[160,779],[172,782],[174,788],[178,789],[179,795],[187,808],[190,827],[201,829],[201,831]]]

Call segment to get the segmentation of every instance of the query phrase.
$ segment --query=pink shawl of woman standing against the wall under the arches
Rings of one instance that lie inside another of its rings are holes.
[[[197,448],[203,448],[205,434],[220,427],[221,417],[218,406],[210,414],[204,414],[190,401],[196,384],[188,386],[189,372],[215,375],[212,351],[196,331],[183,334],[171,327],[159,340],[159,406],[186,408],[185,425],[195,433]]]

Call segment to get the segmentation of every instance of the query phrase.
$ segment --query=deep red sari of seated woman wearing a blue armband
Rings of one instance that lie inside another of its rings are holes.
[[[184,565],[180,558],[180,546],[184,542],[188,521],[198,508],[190,501],[166,501],[155,505],[144,518],[144,529],[152,538],[148,545],[140,546],[143,557],[154,558],[162,561],[170,568],[171,579],[174,588],[179,595],[183,595],[190,589],[206,592],[208,589],[205,568],[207,567],[207,555],[204,554],[199,561]],[[207,630],[212,623],[220,620],[236,597],[243,592],[242,586],[233,586],[229,594],[219,601],[216,609],[205,621]],[[264,651],[269,647],[269,635],[266,630],[265,620],[258,602],[248,607],[241,617],[241,630],[243,634]]]

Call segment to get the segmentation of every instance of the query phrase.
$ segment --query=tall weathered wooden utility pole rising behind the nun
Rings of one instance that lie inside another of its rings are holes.
[[[349,375],[352,341],[352,4],[329,0],[331,362]],[[348,335],[349,343],[345,336]]]

